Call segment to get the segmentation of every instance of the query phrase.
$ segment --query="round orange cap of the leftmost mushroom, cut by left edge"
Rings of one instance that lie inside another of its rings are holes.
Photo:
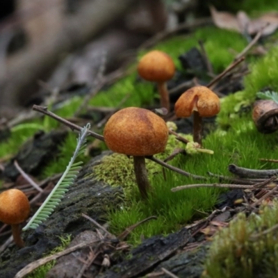
[[[0,194],[0,220],[6,224],[19,224],[28,218],[30,204],[26,195],[18,189]]]

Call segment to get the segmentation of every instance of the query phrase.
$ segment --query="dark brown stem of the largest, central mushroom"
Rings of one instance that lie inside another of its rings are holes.
[[[140,194],[146,199],[147,192],[151,189],[151,186],[147,178],[145,156],[133,156],[133,165]]]

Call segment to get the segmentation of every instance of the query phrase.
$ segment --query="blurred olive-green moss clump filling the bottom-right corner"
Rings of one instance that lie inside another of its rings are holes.
[[[277,277],[277,224],[277,199],[261,206],[259,215],[240,213],[213,238],[203,277]]]

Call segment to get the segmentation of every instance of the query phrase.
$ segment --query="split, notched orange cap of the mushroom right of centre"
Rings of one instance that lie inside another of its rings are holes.
[[[220,111],[220,99],[205,86],[196,86],[183,92],[174,105],[177,117],[190,117],[193,111],[201,117],[213,117]]]

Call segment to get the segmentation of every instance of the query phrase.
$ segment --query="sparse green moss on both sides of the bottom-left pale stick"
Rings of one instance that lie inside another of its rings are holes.
[[[60,246],[54,248],[54,250],[52,250],[49,254],[45,256],[51,256],[53,254],[65,250],[67,245],[69,245],[72,240],[70,235],[61,236],[59,238],[61,240]],[[49,261],[48,263],[45,263],[44,265],[41,265],[39,268],[33,270],[29,275],[26,276],[26,278],[44,278],[46,277],[47,272],[49,272],[49,270],[51,270],[51,268],[53,268],[55,264],[56,260]]]

